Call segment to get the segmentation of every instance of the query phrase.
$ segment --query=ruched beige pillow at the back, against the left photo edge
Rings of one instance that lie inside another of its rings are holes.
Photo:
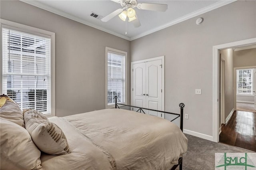
[[[14,102],[7,100],[4,103],[0,108],[0,117],[25,127],[22,111],[20,110],[19,105]]]

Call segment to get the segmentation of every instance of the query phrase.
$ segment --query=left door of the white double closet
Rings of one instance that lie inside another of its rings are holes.
[[[146,64],[133,64],[133,105],[146,107]]]

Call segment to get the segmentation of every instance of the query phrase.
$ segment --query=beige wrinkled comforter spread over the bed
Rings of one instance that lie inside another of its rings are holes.
[[[49,119],[66,135],[72,153],[42,154],[43,170],[165,170],[187,151],[187,138],[168,120],[104,109]]]

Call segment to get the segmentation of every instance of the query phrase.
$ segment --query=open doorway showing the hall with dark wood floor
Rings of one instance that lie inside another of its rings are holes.
[[[219,141],[256,152],[256,45],[219,52]]]

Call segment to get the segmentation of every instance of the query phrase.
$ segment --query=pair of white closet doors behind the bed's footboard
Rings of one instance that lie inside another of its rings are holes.
[[[162,110],[162,60],[133,64],[133,105]],[[161,113],[147,111],[162,117]]]

